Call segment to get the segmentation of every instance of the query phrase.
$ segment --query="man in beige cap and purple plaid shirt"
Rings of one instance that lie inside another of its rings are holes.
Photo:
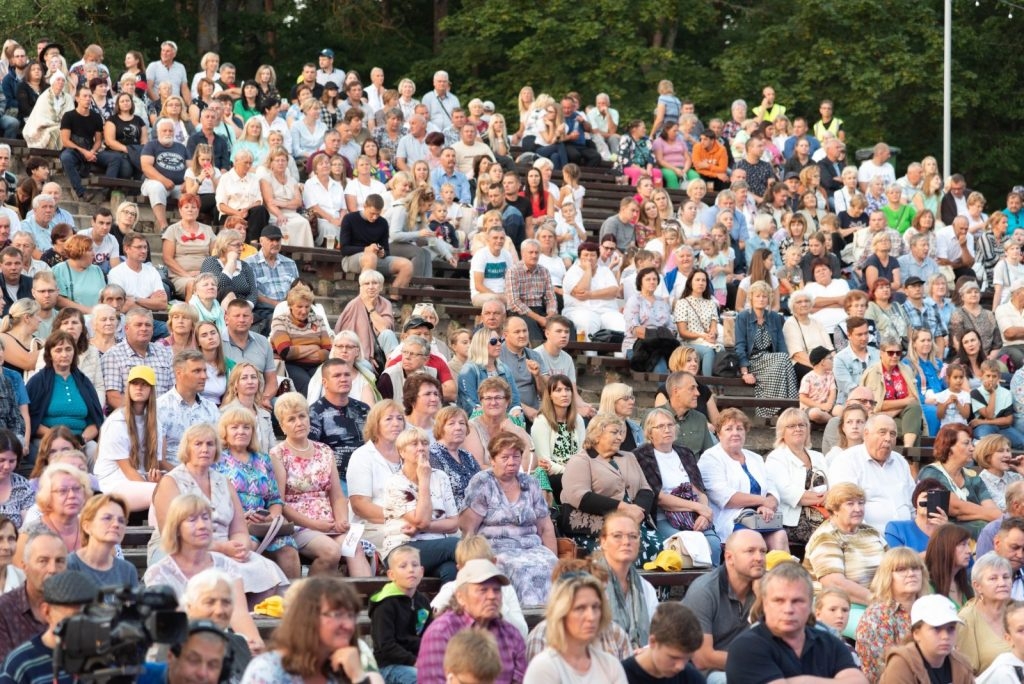
[[[526,672],[526,644],[519,631],[502,616],[502,587],[509,580],[489,560],[466,561],[455,581],[456,607],[434,619],[423,633],[416,660],[420,684],[443,684],[444,647],[467,629],[489,632],[498,641],[502,674],[495,684],[521,682]]]

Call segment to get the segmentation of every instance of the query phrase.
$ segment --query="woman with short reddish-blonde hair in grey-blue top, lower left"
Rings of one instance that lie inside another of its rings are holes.
[[[97,494],[85,502],[80,517],[82,547],[68,556],[68,569],[89,574],[100,587],[138,586],[138,570],[118,558],[128,529],[128,504],[117,495]]]

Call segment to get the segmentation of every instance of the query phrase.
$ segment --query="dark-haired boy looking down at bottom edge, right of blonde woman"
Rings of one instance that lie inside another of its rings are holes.
[[[690,658],[703,632],[693,611],[682,603],[660,603],[650,622],[647,646],[623,660],[630,684],[696,684],[705,678]]]

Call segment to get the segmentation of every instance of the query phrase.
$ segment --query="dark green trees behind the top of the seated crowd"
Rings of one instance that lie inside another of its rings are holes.
[[[953,20],[952,167],[991,207],[1021,182],[1024,17],[954,0]],[[98,42],[115,71],[126,50],[152,59],[166,39],[191,71],[211,43],[240,77],[269,62],[286,84],[332,47],[338,68],[380,66],[421,94],[445,69],[464,101],[492,99],[513,119],[523,85],[586,101],[604,91],[624,118],[649,121],[660,79],[706,120],[728,117],[736,97],[755,105],[771,84],[811,121],[833,99],[853,147],[889,141],[900,167],[941,155],[940,0],[22,0],[0,4],[0,27],[27,46],[55,38],[72,55]]]

